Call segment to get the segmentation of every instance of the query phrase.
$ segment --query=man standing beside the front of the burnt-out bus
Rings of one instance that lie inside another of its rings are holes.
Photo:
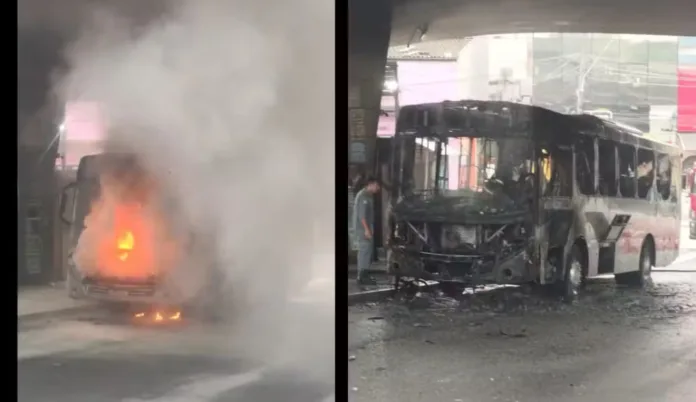
[[[353,206],[354,241],[358,246],[358,284],[374,285],[375,280],[369,276],[374,249],[373,234],[375,228],[374,196],[379,193],[379,182],[374,177],[365,180],[365,187],[355,196]]]

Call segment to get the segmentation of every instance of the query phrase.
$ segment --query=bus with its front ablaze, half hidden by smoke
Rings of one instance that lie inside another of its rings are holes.
[[[129,154],[88,155],[61,197],[70,225],[70,296],[174,309],[220,305],[222,278],[205,234]],[[157,312],[158,317],[162,317]]]

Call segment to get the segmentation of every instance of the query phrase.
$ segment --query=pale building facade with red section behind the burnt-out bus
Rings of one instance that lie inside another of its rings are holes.
[[[468,38],[457,52],[450,61],[393,62],[399,94],[392,103],[497,99],[592,113],[683,146],[685,165],[696,160],[696,37],[486,35]]]

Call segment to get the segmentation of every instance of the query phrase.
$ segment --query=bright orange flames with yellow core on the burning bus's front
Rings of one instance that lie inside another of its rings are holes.
[[[107,171],[99,177],[100,195],[91,204],[75,251],[78,268],[127,278],[171,269],[182,249],[179,230],[161,207],[161,188],[141,170],[119,174]]]

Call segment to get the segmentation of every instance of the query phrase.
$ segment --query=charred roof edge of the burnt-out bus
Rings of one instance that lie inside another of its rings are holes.
[[[540,124],[541,123],[541,124]],[[555,139],[561,132],[679,154],[681,149],[643,136],[633,127],[589,114],[569,115],[540,106],[504,101],[443,101],[403,106],[398,134],[423,137],[529,136]]]

